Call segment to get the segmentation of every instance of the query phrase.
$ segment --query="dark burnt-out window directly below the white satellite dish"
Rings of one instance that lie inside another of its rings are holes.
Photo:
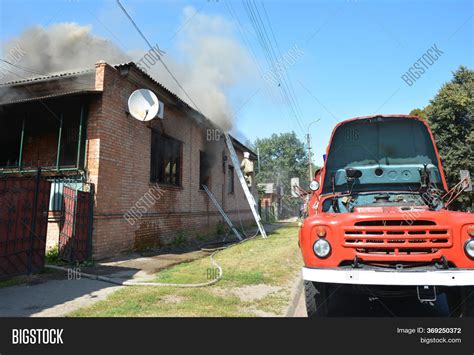
[[[181,185],[182,143],[152,131],[150,181],[168,185]]]

